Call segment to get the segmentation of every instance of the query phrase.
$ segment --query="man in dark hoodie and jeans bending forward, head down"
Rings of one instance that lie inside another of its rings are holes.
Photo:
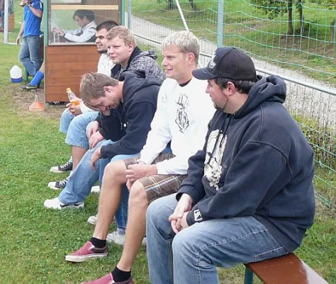
[[[67,185],[58,197],[45,200],[46,208],[84,207],[91,186],[99,178],[100,158],[119,160],[140,152],[157,107],[159,82],[142,71],[124,72],[119,81],[103,74],[89,73],[82,78],[80,92],[84,104],[101,111],[105,117],[99,128],[103,129],[108,141],[101,141],[103,146],[99,144],[94,151],[92,158],[96,163],[91,165],[92,153],[84,155],[72,173],[71,186]]]

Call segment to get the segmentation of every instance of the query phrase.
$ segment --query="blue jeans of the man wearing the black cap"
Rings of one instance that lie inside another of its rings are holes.
[[[263,261],[289,253],[254,217],[212,219],[174,234],[168,217],[176,195],[147,209],[147,258],[151,283],[219,283],[216,266]]]

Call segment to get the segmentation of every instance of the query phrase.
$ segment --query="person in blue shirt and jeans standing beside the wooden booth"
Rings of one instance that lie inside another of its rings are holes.
[[[21,43],[19,60],[26,67],[29,75],[34,76],[39,70],[40,62],[40,34],[41,21],[43,16],[43,4],[40,0],[23,0],[24,16],[16,43]]]

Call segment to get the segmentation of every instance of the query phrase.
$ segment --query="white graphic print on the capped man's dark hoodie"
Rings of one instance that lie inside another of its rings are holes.
[[[226,139],[221,131],[211,131],[206,146],[206,160],[204,161],[204,176],[211,187],[218,190],[218,182],[222,173],[222,159],[226,146]]]

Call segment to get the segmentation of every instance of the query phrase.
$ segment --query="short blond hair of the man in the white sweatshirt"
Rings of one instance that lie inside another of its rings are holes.
[[[199,42],[198,38],[189,31],[177,31],[168,35],[162,41],[162,48],[166,48],[169,45],[174,45],[179,48],[181,53],[194,53],[196,65],[198,64],[199,57]]]

